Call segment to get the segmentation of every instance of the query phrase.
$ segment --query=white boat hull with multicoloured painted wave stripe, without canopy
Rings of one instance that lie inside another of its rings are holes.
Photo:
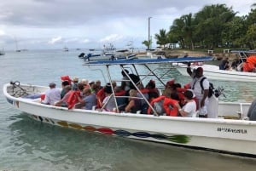
[[[38,93],[47,89],[31,85],[22,85],[22,88],[30,93],[33,91]],[[31,100],[14,97],[13,92],[16,92],[16,89],[14,90],[12,85],[4,85],[3,94],[11,105],[43,123],[138,140],[223,151],[242,156],[256,155],[256,122],[224,119],[224,113],[220,111],[221,118],[198,118],[154,117],[153,115],[81,109],[67,110],[63,107],[43,105],[39,98]],[[223,105],[220,109],[228,106],[225,103],[220,103],[220,105]],[[244,104],[243,107],[249,105]],[[230,103],[229,114],[237,118],[236,111],[240,107],[240,105]],[[243,111],[247,112],[246,109]]]

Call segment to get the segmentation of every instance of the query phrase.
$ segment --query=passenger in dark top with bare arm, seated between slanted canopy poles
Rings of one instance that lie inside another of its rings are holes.
[[[142,103],[140,99],[136,99],[137,91],[135,89],[131,89],[129,94],[129,103],[125,106],[125,112],[137,113],[137,111],[141,111]]]

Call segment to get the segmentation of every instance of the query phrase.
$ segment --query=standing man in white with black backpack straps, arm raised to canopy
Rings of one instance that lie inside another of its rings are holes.
[[[207,105],[208,105],[208,94],[209,94],[209,81],[203,76],[202,67],[198,67],[195,70],[195,74],[191,71],[190,65],[188,65],[187,72],[189,76],[193,78],[190,83],[190,88],[193,89],[195,97],[198,101],[199,106],[199,117],[207,117]]]

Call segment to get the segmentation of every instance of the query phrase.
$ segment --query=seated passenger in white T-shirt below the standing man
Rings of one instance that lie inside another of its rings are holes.
[[[193,100],[193,92],[190,90],[186,90],[184,92],[184,97],[185,97],[186,104],[182,108],[180,105],[177,104],[179,114],[182,117],[195,117],[196,104],[195,104],[195,100]]]

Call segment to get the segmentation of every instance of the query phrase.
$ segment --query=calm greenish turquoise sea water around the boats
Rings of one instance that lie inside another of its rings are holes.
[[[9,81],[60,87],[60,77],[86,78],[107,81],[100,67],[82,66],[78,55],[83,50],[7,52],[0,56],[0,85]],[[106,77],[106,72],[103,72]],[[121,77],[119,69],[111,75]],[[163,77],[177,77],[178,83],[190,78],[176,70]],[[256,83],[213,81],[222,86],[224,101],[250,101],[256,97]],[[195,151],[172,145],[130,140],[105,134],[95,134],[59,128],[33,121],[26,113],[9,105],[0,92],[0,170],[147,170],[147,171],[254,171],[255,159],[232,157],[211,151]]]

